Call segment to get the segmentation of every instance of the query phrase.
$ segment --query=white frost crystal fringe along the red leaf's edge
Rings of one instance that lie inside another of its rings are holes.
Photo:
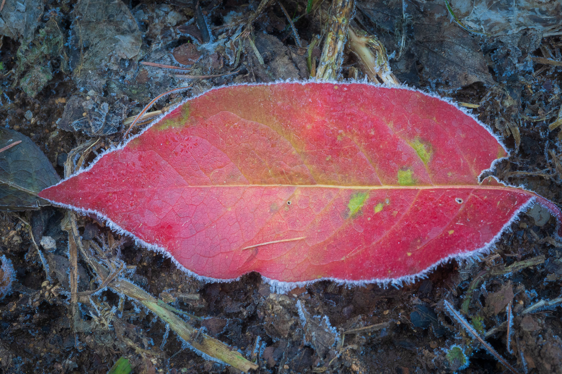
[[[139,137],[140,135],[142,135],[145,131],[147,131],[149,128],[151,128],[154,124],[158,123],[161,121],[161,119],[163,119],[165,116],[167,116],[167,114],[169,114],[170,112],[172,112],[173,110],[175,110],[176,108],[180,107],[181,105],[183,105],[184,103],[187,103],[187,101],[190,101],[192,99],[195,99],[199,96],[205,95],[206,93],[209,93],[210,91],[213,90],[217,90],[217,89],[224,89],[225,87],[233,87],[233,86],[266,86],[266,85],[274,85],[274,84],[279,84],[279,83],[287,83],[287,84],[301,84],[301,85],[305,85],[305,84],[334,84],[334,85],[338,85],[338,86],[346,86],[346,85],[365,85],[365,86],[374,86],[374,87],[380,87],[380,88],[387,88],[387,89],[404,89],[404,90],[409,90],[409,91],[415,91],[421,94],[424,94],[426,96],[430,96],[433,98],[437,98],[440,99],[442,101],[446,101],[448,104],[452,105],[453,107],[455,107],[456,109],[460,110],[461,112],[463,112],[464,114],[466,114],[466,116],[469,116],[470,118],[472,118],[475,122],[477,122],[480,126],[482,126],[483,128],[485,128],[488,133],[490,133],[491,136],[493,136],[498,144],[500,144],[503,149],[506,151],[507,156],[504,158],[500,158],[500,159],[496,159],[492,162],[490,168],[486,169],[486,170],[482,170],[481,174],[479,177],[482,177],[484,173],[488,172],[489,170],[492,170],[496,163],[498,163],[501,160],[506,159],[510,154],[509,151],[507,150],[506,146],[504,145],[504,143],[500,140],[500,138],[498,136],[496,136],[490,127],[488,127],[486,124],[482,123],[481,121],[479,121],[478,118],[476,118],[472,113],[469,113],[467,110],[465,110],[464,108],[459,107],[456,103],[454,103],[454,101],[452,101],[451,99],[448,98],[441,98],[436,94],[430,94],[430,93],[425,93],[424,91],[418,90],[418,89],[414,89],[412,87],[408,87],[406,85],[401,85],[401,86],[388,86],[388,85],[381,85],[381,84],[372,84],[372,83],[362,83],[362,82],[336,82],[336,81],[315,81],[315,80],[308,80],[308,81],[276,81],[276,82],[271,82],[271,83],[267,83],[267,84],[238,84],[238,85],[227,85],[227,86],[220,86],[220,87],[213,87],[212,89],[205,91],[205,93],[202,93],[200,95],[196,95],[193,96],[191,98],[185,99],[180,101],[180,103],[174,105],[173,107],[171,107],[166,113],[162,113],[160,116],[156,117],[151,123],[149,123],[149,125],[144,128],[142,131],[140,131],[137,135],[134,135],[132,137],[130,137],[128,140],[124,141],[123,143],[121,143],[118,146],[112,146],[110,148],[108,148],[106,151],[104,151],[103,153],[99,154],[96,159],[94,159],[94,161],[88,165],[87,168],[78,170],[75,173],[72,173],[72,175],[68,178],[62,179],[62,181],[58,182],[57,184],[55,184],[55,186],[57,186],[58,184],[67,181],[68,179],[79,175],[80,173],[86,172],[90,169],[92,169],[94,167],[94,165],[106,154],[111,153],[113,151],[116,150],[121,150],[123,149],[130,141],[132,141],[133,139]],[[496,177],[493,177],[497,180]],[[504,182],[501,182],[502,184],[504,184],[505,186],[509,186],[509,187],[515,187],[515,188],[521,188],[521,187],[517,187],[517,186],[510,186],[509,184],[506,184]],[[538,196],[538,195],[537,195]],[[181,270],[184,271],[184,273],[186,273],[189,276],[192,276],[193,278],[196,278],[198,280],[204,281],[204,282],[230,282],[230,281],[235,281],[235,280],[239,280],[241,277],[238,278],[232,278],[232,279],[218,279],[218,278],[210,278],[208,276],[203,276],[203,275],[198,275],[196,273],[193,273],[193,271],[187,269],[186,267],[184,267],[182,264],[180,264],[178,262],[178,260],[176,260],[174,258],[174,256],[172,256],[169,252],[167,252],[166,248],[164,247],[160,247],[157,246],[156,244],[152,244],[152,243],[148,243],[146,241],[143,241],[142,239],[138,238],[137,236],[135,236],[133,233],[129,232],[128,230],[125,230],[123,228],[121,228],[119,225],[117,225],[114,221],[112,221],[110,218],[108,218],[107,216],[99,213],[98,211],[95,210],[91,210],[91,209],[80,209],[78,207],[75,206],[71,206],[71,205],[67,205],[67,204],[61,204],[59,202],[56,201],[52,201],[49,199],[44,199],[47,200],[49,202],[51,202],[53,205],[57,205],[57,206],[61,206],[61,207],[65,207],[66,209],[70,209],[70,210],[74,210],[74,211],[78,211],[81,214],[87,215],[87,214],[96,214],[100,219],[102,219],[103,221],[105,221],[107,223],[107,225],[114,230],[115,232],[119,233],[119,234],[126,234],[130,237],[132,237],[135,242],[137,244],[140,244],[143,247],[148,248],[149,250],[155,251],[155,252],[160,252],[162,253],[162,255],[164,255],[165,257],[169,257],[171,259],[171,261],[174,262],[174,264]],[[436,269],[437,266],[441,265],[441,264],[445,264],[446,262],[450,261],[450,260],[474,260],[479,258],[480,256],[486,255],[487,253],[490,253],[493,251],[493,246],[494,244],[500,239],[500,237],[502,236],[502,234],[504,232],[507,231],[507,229],[509,229],[510,225],[513,223],[514,220],[516,220],[519,216],[519,214],[526,210],[529,206],[531,206],[532,204],[534,204],[536,202],[537,198],[536,197],[531,197],[527,202],[525,202],[525,204],[523,204],[522,206],[519,207],[519,209],[517,211],[514,212],[513,215],[511,215],[511,218],[504,224],[504,226],[501,228],[501,230],[498,231],[498,233],[496,234],[496,236],[494,236],[490,242],[486,243],[483,247],[481,248],[477,248],[473,251],[469,251],[469,252],[464,252],[464,253],[457,253],[454,255],[450,255],[447,256],[445,258],[442,258],[441,260],[437,261],[436,263],[434,263],[433,265],[427,267],[427,269],[424,269],[422,271],[420,271],[419,273],[413,274],[413,275],[407,275],[407,276],[402,276],[400,278],[373,278],[373,279],[368,279],[368,280],[347,280],[347,279],[339,279],[339,278],[318,278],[318,279],[313,279],[313,280],[307,280],[307,281],[297,281],[297,282],[287,282],[287,281],[279,281],[279,280],[275,280],[275,279],[270,279],[267,278],[266,276],[262,275],[262,279],[268,283],[271,287],[271,291],[274,293],[286,293],[291,289],[297,288],[297,287],[303,287],[305,285],[308,284],[312,284],[318,281],[323,281],[323,280],[331,280],[336,282],[339,285],[345,284],[345,285],[366,285],[366,284],[371,284],[371,283],[375,283],[378,285],[381,285],[383,287],[387,287],[388,285],[395,285],[395,286],[400,286],[404,283],[409,284],[409,283],[414,283],[416,280],[419,279],[423,279],[423,278],[427,278],[427,274]],[[541,202],[542,199],[539,199],[539,202]],[[545,199],[546,200],[546,199]],[[554,215],[558,215],[556,214],[554,211],[552,211],[551,207],[545,205],[545,204],[541,204],[543,206],[545,206],[550,213],[554,214]],[[559,225],[560,222],[557,223],[556,225],[556,234],[555,236],[558,237],[558,229],[559,229]]]

